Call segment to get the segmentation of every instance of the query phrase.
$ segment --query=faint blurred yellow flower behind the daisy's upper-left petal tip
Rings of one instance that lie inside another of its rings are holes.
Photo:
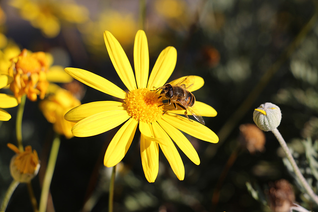
[[[109,9],[100,12],[95,21],[87,21],[80,27],[83,40],[92,52],[100,53],[105,50],[100,36],[105,29],[111,31],[121,45],[127,46],[132,44],[138,24],[133,13]]]

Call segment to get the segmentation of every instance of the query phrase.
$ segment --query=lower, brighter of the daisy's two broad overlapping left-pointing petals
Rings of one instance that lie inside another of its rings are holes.
[[[80,120],[72,128],[72,133],[76,137],[95,136],[119,126],[129,118],[124,110],[97,113]]]

